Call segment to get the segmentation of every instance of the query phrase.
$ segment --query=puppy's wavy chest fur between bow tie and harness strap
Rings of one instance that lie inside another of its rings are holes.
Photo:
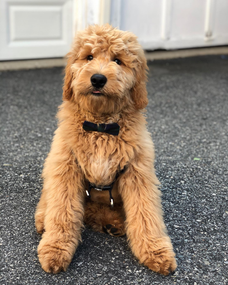
[[[129,160],[125,143],[100,133],[85,133],[82,141],[76,156],[85,178],[96,185],[110,184]]]

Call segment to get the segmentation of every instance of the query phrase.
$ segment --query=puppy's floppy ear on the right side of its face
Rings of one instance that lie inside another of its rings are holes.
[[[143,50],[141,50],[140,54],[138,55],[138,64],[135,69],[136,82],[133,88],[131,89],[131,97],[137,109],[143,109],[148,104],[146,88],[147,70],[147,61]]]

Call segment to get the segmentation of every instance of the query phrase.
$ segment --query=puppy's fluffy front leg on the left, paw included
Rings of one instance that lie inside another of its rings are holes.
[[[75,158],[55,142],[43,176],[47,208],[38,257],[47,272],[66,271],[81,240],[83,227],[83,180]]]

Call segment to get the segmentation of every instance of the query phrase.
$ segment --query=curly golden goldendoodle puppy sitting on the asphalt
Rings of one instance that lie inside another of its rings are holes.
[[[95,25],[75,38],[35,214],[38,233],[44,231],[38,257],[47,272],[67,269],[83,220],[101,233],[126,233],[132,252],[151,270],[168,275],[177,267],[142,113],[146,70],[130,32]]]

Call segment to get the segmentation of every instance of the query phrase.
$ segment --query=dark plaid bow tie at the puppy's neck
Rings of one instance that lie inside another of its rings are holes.
[[[109,133],[113,136],[118,136],[120,131],[120,126],[117,123],[112,124],[94,124],[92,122],[85,121],[82,125],[85,131],[97,131],[103,133]]]

